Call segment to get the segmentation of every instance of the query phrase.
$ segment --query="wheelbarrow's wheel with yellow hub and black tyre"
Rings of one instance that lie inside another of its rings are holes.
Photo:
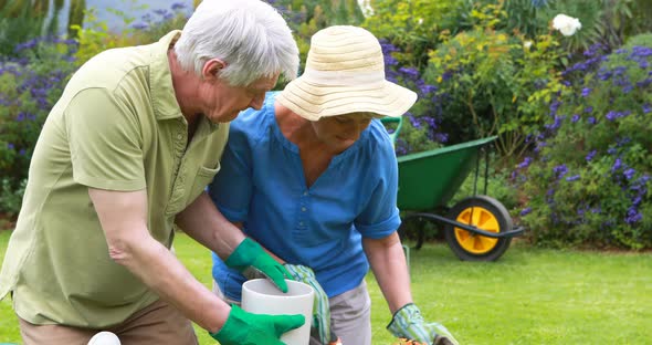
[[[513,227],[512,217],[496,199],[487,196],[466,198],[451,208],[448,215],[460,223],[487,232],[505,232]],[[494,261],[509,248],[512,238],[490,238],[452,224],[444,228],[446,243],[460,258],[466,261]]]

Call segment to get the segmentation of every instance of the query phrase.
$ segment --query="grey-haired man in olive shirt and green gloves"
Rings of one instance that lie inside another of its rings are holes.
[[[215,209],[204,188],[239,112],[261,108],[298,50],[257,0],[204,0],[183,31],[85,63],[53,107],[33,154],[0,276],[24,344],[281,344],[301,315],[231,307],[175,258],[175,223],[238,270],[282,290],[284,268]]]

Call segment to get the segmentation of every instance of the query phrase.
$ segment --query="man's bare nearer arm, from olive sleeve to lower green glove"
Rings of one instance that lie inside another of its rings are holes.
[[[188,318],[215,332],[230,307],[183,268],[147,228],[147,194],[88,189],[108,245],[108,254]],[[102,274],[102,272],[98,272]]]

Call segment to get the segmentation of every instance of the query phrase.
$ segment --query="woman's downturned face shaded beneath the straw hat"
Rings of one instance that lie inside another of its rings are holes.
[[[334,154],[340,154],[356,143],[375,116],[371,113],[351,113],[322,117],[312,125],[317,139]]]

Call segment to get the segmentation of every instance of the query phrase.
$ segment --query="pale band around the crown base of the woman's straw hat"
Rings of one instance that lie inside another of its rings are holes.
[[[317,71],[306,69],[301,76],[304,81],[313,84],[328,86],[349,86],[358,84],[372,84],[385,82],[385,71]]]

